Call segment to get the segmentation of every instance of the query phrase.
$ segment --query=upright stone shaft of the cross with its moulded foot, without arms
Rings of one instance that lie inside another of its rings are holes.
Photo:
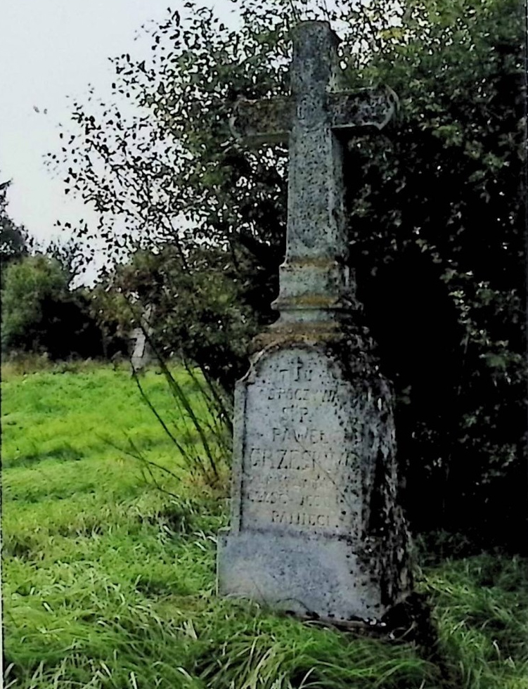
[[[326,309],[349,291],[342,156],[328,103],[339,75],[338,40],[326,22],[304,22],[294,35],[281,321],[328,318]]]

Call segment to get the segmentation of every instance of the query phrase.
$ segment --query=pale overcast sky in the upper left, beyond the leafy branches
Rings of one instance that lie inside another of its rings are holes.
[[[229,0],[211,0],[219,14]],[[183,0],[11,0],[0,21],[0,181],[13,181],[8,213],[39,240],[56,235],[56,219],[89,219],[82,202],[65,196],[44,155],[67,122],[67,96],[110,94],[109,57],[148,55],[142,25],[182,11]],[[143,37],[143,38],[142,38]],[[126,105],[124,105],[124,108]],[[37,112],[38,110],[38,112]]]

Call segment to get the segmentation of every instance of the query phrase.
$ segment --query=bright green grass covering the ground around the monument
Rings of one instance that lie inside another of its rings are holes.
[[[526,561],[427,567],[435,648],[219,599],[221,487],[188,477],[124,368],[41,368],[3,371],[6,688],[528,689]],[[175,375],[205,413],[195,382]],[[174,416],[163,376],[141,382]],[[168,493],[118,449],[130,441],[174,470],[156,475]]]

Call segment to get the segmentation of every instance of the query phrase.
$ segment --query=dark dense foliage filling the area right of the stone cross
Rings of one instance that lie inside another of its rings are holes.
[[[408,3],[401,26],[378,34],[370,64],[351,80],[388,82],[401,96],[399,126],[382,152],[363,142],[349,160],[366,177],[349,184],[361,298],[407,403],[397,424],[408,496],[423,496],[408,499],[411,513],[484,543],[508,541],[511,529],[520,547],[523,43],[517,1]]]

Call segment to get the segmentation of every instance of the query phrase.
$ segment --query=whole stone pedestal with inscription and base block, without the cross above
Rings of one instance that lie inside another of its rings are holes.
[[[309,338],[270,332],[237,384],[219,592],[380,619],[408,593],[389,386],[361,333]]]

